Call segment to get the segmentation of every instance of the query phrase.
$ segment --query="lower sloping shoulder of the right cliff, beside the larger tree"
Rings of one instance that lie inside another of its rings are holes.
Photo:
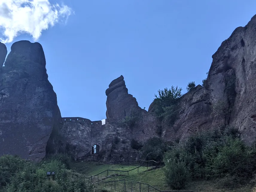
[[[163,122],[163,138],[166,141],[181,140],[197,131],[212,127],[212,106],[207,89],[198,85],[183,95],[178,102],[179,114],[173,126]]]

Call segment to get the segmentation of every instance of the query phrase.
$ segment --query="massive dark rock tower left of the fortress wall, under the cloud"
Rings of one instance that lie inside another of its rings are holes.
[[[39,43],[15,42],[4,65],[0,68],[0,156],[17,154],[39,161],[61,120],[43,48]]]

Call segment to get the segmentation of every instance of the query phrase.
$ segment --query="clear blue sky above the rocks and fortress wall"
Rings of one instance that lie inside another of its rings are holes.
[[[45,51],[48,79],[62,117],[92,121],[106,118],[105,90],[120,75],[146,109],[158,89],[173,85],[185,93],[189,81],[201,84],[221,42],[256,14],[253,0],[49,2],[72,11],[36,40]],[[13,42],[23,39],[34,42],[24,33]]]

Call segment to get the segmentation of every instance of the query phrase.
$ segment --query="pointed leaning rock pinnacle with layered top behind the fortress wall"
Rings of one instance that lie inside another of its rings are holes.
[[[121,119],[131,112],[147,113],[138,106],[136,98],[128,94],[123,75],[109,84],[106,96],[106,118]]]

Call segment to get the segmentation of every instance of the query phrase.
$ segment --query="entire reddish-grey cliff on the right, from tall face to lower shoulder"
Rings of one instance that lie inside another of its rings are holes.
[[[164,138],[185,138],[201,129],[233,126],[247,144],[256,139],[256,16],[222,42],[205,86],[180,98],[179,118],[164,125]],[[150,109],[153,109],[153,104]]]

